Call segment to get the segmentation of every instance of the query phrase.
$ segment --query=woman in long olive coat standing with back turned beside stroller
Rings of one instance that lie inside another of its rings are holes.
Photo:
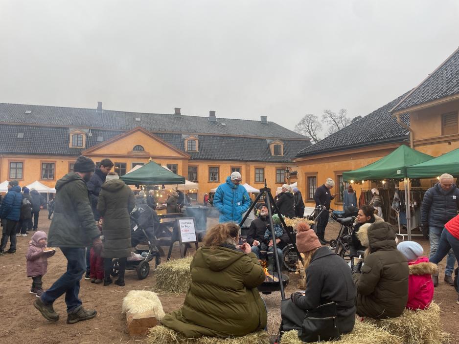
[[[104,285],[112,283],[110,278],[112,258],[118,258],[119,261],[119,275],[115,283],[119,286],[124,285],[126,258],[132,252],[129,214],[134,206],[135,196],[132,190],[121,179],[118,179],[117,175],[107,175],[97,200],[97,211],[104,218],[102,226],[104,249],[101,254],[105,258]]]

